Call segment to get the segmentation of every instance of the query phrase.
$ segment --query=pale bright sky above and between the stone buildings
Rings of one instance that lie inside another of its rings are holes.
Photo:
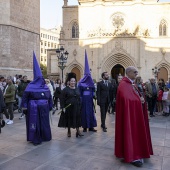
[[[170,0],[160,0],[170,2]],[[63,0],[40,0],[40,24],[42,28],[54,28],[62,24]],[[78,5],[78,0],[68,0],[68,5]]]

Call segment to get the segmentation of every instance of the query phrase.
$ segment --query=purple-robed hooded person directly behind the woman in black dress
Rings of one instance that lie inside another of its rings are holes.
[[[83,132],[89,131],[97,132],[94,127],[97,127],[97,121],[95,117],[95,105],[93,103],[93,98],[95,97],[95,86],[93,79],[91,77],[87,53],[85,51],[85,69],[84,77],[79,81],[78,87],[81,95],[82,102],[82,127]]]

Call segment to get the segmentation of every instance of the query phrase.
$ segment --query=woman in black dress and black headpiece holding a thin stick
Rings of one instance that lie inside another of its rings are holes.
[[[68,81],[70,84],[63,89],[61,95],[61,107],[63,108],[63,112],[60,115],[58,127],[67,127],[68,137],[71,137],[71,128],[76,128],[76,137],[84,136],[79,130],[79,127],[81,127],[81,103],[80,92],[76,87],[76,75],[74,73],[69,73]]]

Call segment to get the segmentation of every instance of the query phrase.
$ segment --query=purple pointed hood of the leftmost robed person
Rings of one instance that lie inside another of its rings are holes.
[[[38,61],[36,59],[34,52],[33,52],[33,75],[34,75],[34,80],[28,84],[25,91],[31,91],[31,92],[49,91],[49,88],[47,87],[45,83],[45,80],[43,78],[40,66],[38,64]]]

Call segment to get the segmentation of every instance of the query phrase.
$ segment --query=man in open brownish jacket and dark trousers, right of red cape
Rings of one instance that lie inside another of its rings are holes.
[[[150,83],[146,85],[146,96],[148,101],[148,108],[150,111],[150,117],[155,117],[153,112],[156,106],[158,91],[159,91],[159,87],[155,82],[155,78],[151,78]]]

